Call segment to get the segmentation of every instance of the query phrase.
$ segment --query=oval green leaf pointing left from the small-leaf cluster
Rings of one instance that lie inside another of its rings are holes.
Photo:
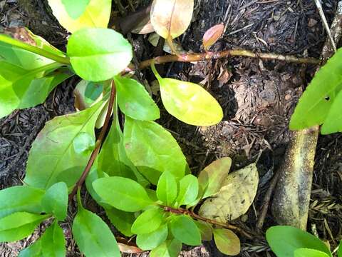
[[[153,203],[145,188],[130,178],[99,178],[93,188],[106,203],[122,211],[140,211]]]

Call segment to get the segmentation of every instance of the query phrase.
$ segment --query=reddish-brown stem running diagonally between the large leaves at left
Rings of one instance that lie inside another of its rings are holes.
[[[103,124],[103,127],[100,131],[98,140],[96,140],[95,149],[90,155],[89,161],[86,165],[86,168],[84,168],[81,178],[78,179],[78,181],[76,182],[76,185],[73,187],[73,191],[71,191],[71,193],[69,194],[69,201],[73,199],[73,196],[75,196],[77,189],[81,188],[81,186],[83,185],[84,181],[86,180],[86,177],[88,176],[88,173],[90,172],[91,166],[93,166],[95,158],[98,156],[98,152],[100,151],[100,146],[102,144],[103,139],[105,138],[105,132],[108,129],[110,116],[112,116],[112,109],[114,105],[115,95],[116,95],[116,89],[115,89],[114,81],[112,80],[111,90],[110,90],[110,99],[108,103],[108,110],[107,110],[107,114],[105,115],[105,123]]]

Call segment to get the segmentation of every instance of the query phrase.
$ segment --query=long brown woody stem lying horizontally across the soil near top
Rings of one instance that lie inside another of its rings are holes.
[[[180,61],[180,62],[192,62],[192,61],[204,61],[210,59],[221,59],[227,58],[231,56],[246,56],[251,58],[263,59],[263,60],[278,60],[278,61],[288,61],[297,64],[320,64],[321,61],[314,58],[299,58],[296,56],[284,56],[281,54],[272,54],[272,53],[254,53],[253,51],[244,50],[244,49],[232,49],[220,52],[210,52],[207,51],[205,53],[197,53],[197,54],[181,54],[177,56],[175,54],[168,54],[165,56],[158,56],[154,59],[149,59],[146,61],[142,61],[139,65],[139,69],[145,69],[149,67],[152,62],[155,64],[165,64],[172,61]],[[128,73],[130,71],[134,71],[134,66],[128,66],[123,73]]]

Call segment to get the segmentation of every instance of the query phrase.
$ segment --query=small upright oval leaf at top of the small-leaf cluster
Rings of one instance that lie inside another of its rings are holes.
[[[165,171],[159,178],[157,184],[157,198],[171,206],[177,197],[177,182],[172,173]]]

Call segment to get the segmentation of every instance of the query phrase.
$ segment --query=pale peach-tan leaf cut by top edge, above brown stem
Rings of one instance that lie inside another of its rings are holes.
[[[150,19],[153,28],[164,39],[175,39],[190,25],[194,0],[154,0]]]

